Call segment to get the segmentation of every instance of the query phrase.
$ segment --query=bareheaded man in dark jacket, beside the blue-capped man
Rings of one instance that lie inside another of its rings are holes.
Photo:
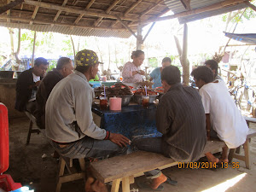
[[[35,118],[40,129],[45,129],[45,104],[49,97],[51,90],[61,79],[66,78],[67,75],[73,73],[73,62],[67,57],[61,57],[57,61],[56,68],[46,74],[37,92],[37,109],[35,111]]]

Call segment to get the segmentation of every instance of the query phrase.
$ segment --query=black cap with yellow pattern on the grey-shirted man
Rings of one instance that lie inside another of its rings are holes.
[[[96,52],[89,49],[80,50],[75,56],[76,66],[93,66],[97,63],[103,64],[99,61]]]

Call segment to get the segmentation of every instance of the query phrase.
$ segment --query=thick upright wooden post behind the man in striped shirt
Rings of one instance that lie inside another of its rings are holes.
[[[188,61],[188,26],[184,24],[183,30],[183,54],[181,64],[183,66],[183,84],[189,85],[189,61]]]

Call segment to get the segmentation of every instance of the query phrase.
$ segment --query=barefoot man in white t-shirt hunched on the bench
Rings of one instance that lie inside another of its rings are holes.
[[[207,118],[207,137],[219,138],[226,143],[220,161],[228,162],[229,148],[237,148],[245,143],[247,138],[247,123],[229,91],[219,80],[213,79],[212,70],[206,66],[197,67],[191,73],[195,84],[200,89],[201,100]],[[218,163],[212,153],[207,153],[209,162]]]

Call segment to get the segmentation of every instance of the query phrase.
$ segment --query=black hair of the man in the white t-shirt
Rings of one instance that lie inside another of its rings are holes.
[[[196,80],[203,80],[204,82],[211,83],[214,80],[213,72],[209,67],[206,66],[200,66],[193,70],[191,75]]]

